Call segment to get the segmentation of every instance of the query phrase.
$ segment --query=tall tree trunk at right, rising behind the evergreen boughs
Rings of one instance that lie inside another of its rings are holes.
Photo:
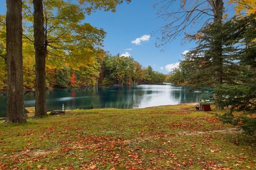
[[[209,0],[214,14],[213,24],[221,25],[222,16],[223,16],[223,1],[222,0]],[[220,30],[221,31],[221,30]],[[213,63],[215,65],[214,74],[215,74],[215,84],[214,86],[221,85],[223,83],[223,58],[222,58],[222,40],[220,38],[213,40]]]

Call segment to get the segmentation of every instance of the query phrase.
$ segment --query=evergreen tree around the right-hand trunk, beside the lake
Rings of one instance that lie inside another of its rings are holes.
[[[236,47],[230,41],[228,25],[209,24],[198,32],[198,46],[184,55],[181,68],[186,70],[188,84],[218,87],[222,84],[236,84],[243,66],[237,63]],[[221,54],[215,41],[221,41]],[[216,58],[219,58],[218,60]],[[220,62],[221,61],[221,62]]]

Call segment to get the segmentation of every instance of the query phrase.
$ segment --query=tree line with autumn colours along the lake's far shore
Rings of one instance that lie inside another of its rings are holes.
[[[33,46],[31,45],[31,50]],[[35,89],[35,57],[23,50],[23,84],[26,90]],[[49,57],[50,58],[50,57]],[[3,72],[0,74],[0,90],[6,90],[6,64],[0,58]],[[59,61],[59,67],[46,61],[46,88],[92,87],[111,85],[158,84],[165,81],[165,75],[151,66],[143,68],[130,56],[100,56],[93,63],[79,67]]]

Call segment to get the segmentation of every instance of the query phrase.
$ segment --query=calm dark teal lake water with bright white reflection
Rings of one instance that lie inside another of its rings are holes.
[[[201,92],[202,91],[202,92]],[[138,85],[124,87],[69,88],[47,90],[47,111],[90,108],[144,108],[197,102],[205,90],[173,85]],[[35,105],[35,92],[24,94],[25,107]],[[6,94],[0,94],[0,117],[6,114]]]

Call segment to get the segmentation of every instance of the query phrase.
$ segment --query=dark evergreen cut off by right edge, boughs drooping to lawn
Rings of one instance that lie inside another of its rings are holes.
[[[220,108],[228,107],[230,112],[223,115],[225,122],[242,123],[247,133],[256,133],[256,120],[251,117],[256,111],[256,13],[242,18],[235,18],[225,24],[229,32],[230,43],[235,47],[234,57],[237,64],[244,66],[240,72],[241,78],[237,84],[221,86],[214,91],[221,96],[216,100]],[[243,111],[243,115],[236,117],[234,111]]]

